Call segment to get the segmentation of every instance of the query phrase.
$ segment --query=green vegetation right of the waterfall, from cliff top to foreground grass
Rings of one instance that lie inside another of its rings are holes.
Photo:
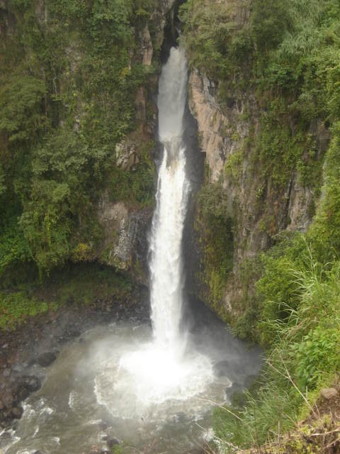
[[[189,61],[218,83],[222,109],[229,97],[254,96],[245,153],[252,172],[261,173],[259,201],[269,185],[273,200],[282,197],[295,172],[314,194],[309,231],[277,236],[275,218],[262,218],[276,245],[240,273],[244,313],[234,331],[265,346],[267,359],[254,387],[231,408],[215,411],[217,436],[233,452],[232,445],[259,448],[277,440],[313,415],[320,388],[339,372],[340,6],[336,0],[188,0],[181,17]],[[235,180],[238,158],[225,168]],[[210,205],[216,204],[220,196],[212,194]],[[321,452],[312,449],[299,441],[287,452]]]

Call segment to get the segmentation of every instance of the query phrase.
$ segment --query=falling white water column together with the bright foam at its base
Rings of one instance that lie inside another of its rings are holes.
[[[120,370],[130,375],[130,392],[142,411],[150,404],[193,397],[213,379],[210,360],[187,351],[186,334],[181,333],[182,236],[189,192],[183,143],[187,72],[183,50],[171,48],[159,79],[159,140],[164,154],[150,240],[153,341],[120,359]]]

